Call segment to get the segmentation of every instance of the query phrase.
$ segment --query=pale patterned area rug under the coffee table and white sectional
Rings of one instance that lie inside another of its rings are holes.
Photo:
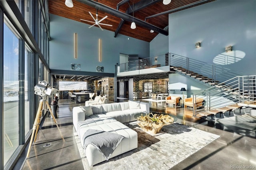
[[[89,166],[75,134],[85,170],[167,170],[220,137],[179,123],[166,125],[154,135],[141,130],[137,121],[124,124],[138,133],[138,148],[94,166]]]

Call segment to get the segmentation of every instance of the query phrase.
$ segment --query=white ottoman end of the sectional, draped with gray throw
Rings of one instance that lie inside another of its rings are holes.
[[[117,148],[114,150],[110,158],[114,156],[120,155],[124,152],[128,152],[132,149],[138,148],[138,134],[136,131],[130,129],[129,127],[125,126],[124,124],[115,121],[111,123],[106,123],[102,125],[96,125],[92,127],[80,127],[78,131],[80,131],[79,138],[82,139],[84,132],[88,129],[96,129],[96,130],[104,130],[107,132],[113,132],[124,136],[124,139]],[[84,141],[81,140],[82,146],[84,145]],[[104,156],[98,151],[96,147],[92,144],[89,144],[85,150],[86,158],[90,166],[98,164],[100,162],[105,161],[106,159]]]

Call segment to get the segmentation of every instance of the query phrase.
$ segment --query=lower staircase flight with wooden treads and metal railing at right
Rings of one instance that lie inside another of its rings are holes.
[[[237,76],[193,95],[193,100],[203,98],[204,107],[193,108],[193,116],[206,117],[241,109],[256,107],[256,75]]]

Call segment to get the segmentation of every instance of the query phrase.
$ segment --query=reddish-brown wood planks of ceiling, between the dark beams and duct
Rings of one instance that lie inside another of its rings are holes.
[[[143,3],[140,1],[143,1]],[[166,27],[168,26],[168,14],[177,12],[180,10],[184,10],[187,8],[191,8],[193,6],[201,5],[207,2],[211,2],[211,1],[214,1],[214,0],[172,0],[170,4],[164,5],[162,3],[162,0],[129,0],[128,2],[125,2],[123,5],[119,7],[119,11],[125,13],[130,9],[129,14],[132,16],[133,15],[132,9],[134,9],[134,18],[140,19],[158,28],[166,29]],[[113,9],[117,8],[117,5],[119,2],[122,2],[122,0],[98,0],[98,3],[104,4]],[[151,4],[146,6],[145,4],[147,3],[145,2],[151,3]],[[76,0],[73,0],[73,4],[74,4],[73,8],[67,7],[65,5],[65,0],[48,0],[48,4],[49,4],[50,14],[55,14],[58,16],[62,16],[65,18],[69,18],[71,20],[83,22],[85,24],[90,24],[90,25],[92,25],[93,23],[82,21],[80,19],[94,21],[90,16],[89,12],[91,12],[94,18],[96,18],[96,8],[93,8],[91,6],[78,2]],[[133,7],[133,4],[134,4],[134,7]],[[140,9],[135,10],[138,7],[140,7]],[[152,18],[150,17],[152,15],[160,14],[162,12],[164,12],[165,14],[154,16]],[[103,20],[101,23],[110,24],[112,26],[101,25],[101,27],[103,30],[116,32],[115,33],[116,37],[118,37],[118,34],[123,34],[125,36],[150,42],[156,37],[157,34],[159,34],[158,32],[150,33],[150,29],[145,28],[143,26],[139,26],[138,24],[136,24],[136,29],[132,30],[130,28],[131,22],[128,22],[125,20],[122,26],[120,27],[119,24],[120,22],[122,22],[121,18],[118,18],[113,14],[108,14],[106,12],[102,12],[98,10],[99,20],[105,17],[106,15],[108,17],[105,20]],[[145,18],[146,18],[146,21],[145,21]],[[94,26],[94,27],[97,27],[97,29],[100,29],[98,28],[98,26]],[[88,25],[85,25],[85,29],[89,29]]]

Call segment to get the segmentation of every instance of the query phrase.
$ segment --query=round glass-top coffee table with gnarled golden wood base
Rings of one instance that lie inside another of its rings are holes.
[[[163,126],[177,121],[177,117],[162,112],[138,113],[134,118],[139,121],[142,130],[150,134],[156,134]]]

